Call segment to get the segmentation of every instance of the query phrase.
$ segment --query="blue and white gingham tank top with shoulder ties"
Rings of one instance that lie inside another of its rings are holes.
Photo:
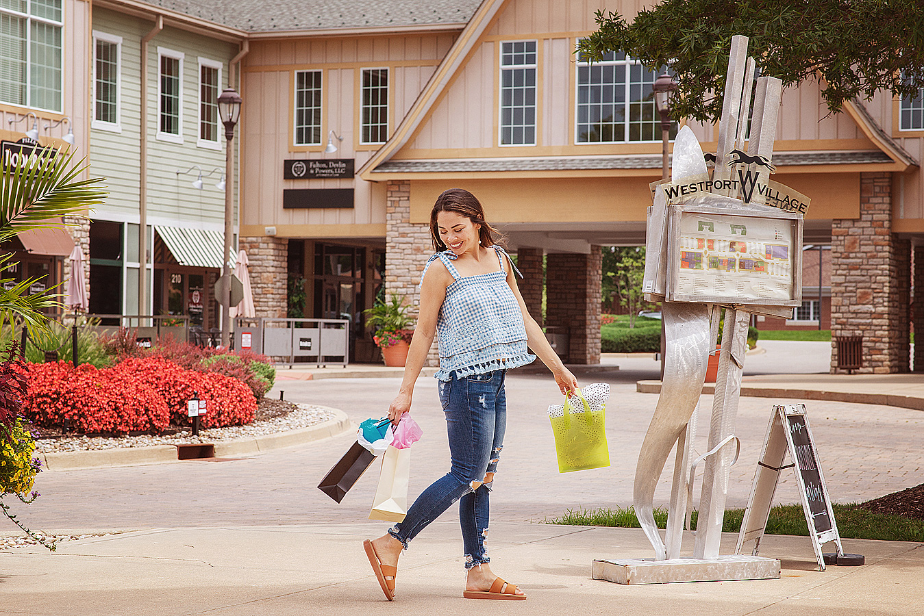
[[[452,250],[436,253],[423,269],[425,275],[431,263],[439,259],[455,279],[446,287],[446,298],[436,320],[440,370],[434,376],[438,380],[450,380],[453,372],[461,379],[492,370],[518,368],[536,359],[529,353],[523,313],[507,284],[504,259],[520,278],[523,274],[504,248],[492,248],[501,263],[500,272],[460,276],[453,265],[456,254]]]

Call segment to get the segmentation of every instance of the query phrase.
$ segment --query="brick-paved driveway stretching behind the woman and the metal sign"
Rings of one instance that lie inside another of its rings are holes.
[[[607,409],[612,466],[559,475],[546,406],[561,396],[549,376],[511,374],[505,451],[492,499],[495,520],[541,522],[569,508],[631,503],[638,448],[657,402],[654,394],[636,393],[634,382],[650,374],[620,370],[578,374],[578,378],[582,384],[595,380],[612,384]],[[279,386],[286,390],[286,400],[334,406],[358,422],[383,415],[399,382],[395,378],[288,380]],[[743,506],[748,499],[776,402],[780,401],[740,401],[737,434],[742,450],[732,470],[730,506]],[[818,401],[809,401],[807,407],[833,501],[863,501],[924,481],[920,455],[924,414],[920,411]],[[703,396],[701,408],[699,452],[705,451],[711,396]],[[424,429],[424,438],[413,447],[411,498],[448,468],[444,418],[432,378],[419,380],[412,412]],[[351,436],[344,435],[224,462],[48,472],[36,484],[42,498],[28,508],[18,508],[18,513],[27,525],[45,530],[365,520],[376,483],[374,465],[340,504],[315,488],[351,441]],[[669,498],[671,469],[673,461],[669,460],[656,493],[656,501],[662,504]],[[784,474],[776,499],[797,501],[791,472]],[[371,523],[371,533],[379,525]]]

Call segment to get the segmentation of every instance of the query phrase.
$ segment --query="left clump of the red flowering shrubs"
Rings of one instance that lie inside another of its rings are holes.
[[[113,368],[65,362],[31,364],[23,415],[38,426],[58,427],[67,419],[77,432],[160,432],[169,425],[164,397]]]

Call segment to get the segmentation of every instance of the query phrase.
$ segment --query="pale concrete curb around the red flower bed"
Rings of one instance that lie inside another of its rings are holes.
[[[321,441],[322,439],[339,436],[353,429],[353,424],[350,422],[349,417],[346,417],[346,413],[329,406],[323,408],[332,411],[334,418],[308,428],[277,432],[276,434],[263,434],[258,437],[234,441],[217,441],[214,443],[215,457],[266,453],[283,447]],[[176,445],[151,445],[148,447],[125,447],[80,452],[39,453],[37,455],[45,465],[45,469],[63,471],[103,466],[152,465],[178,462],[176,452]]]

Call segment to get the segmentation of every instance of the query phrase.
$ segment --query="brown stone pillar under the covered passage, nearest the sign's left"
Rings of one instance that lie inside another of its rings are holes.
[[[599,246],[591,246],[589,255],[546,257],[545,324],[567,330],[565,363],[600,363],[602,267]]]

